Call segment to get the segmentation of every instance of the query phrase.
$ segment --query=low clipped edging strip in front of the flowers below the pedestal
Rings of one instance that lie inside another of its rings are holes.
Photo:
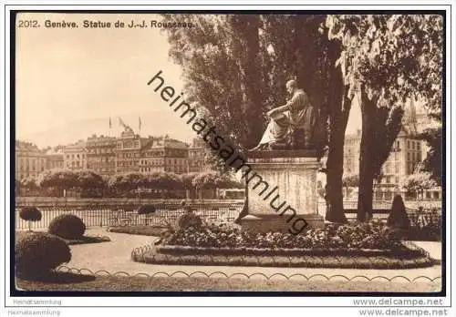
[[[342,254],[340,250],[266,250],[214,249],[182,246],[148,246],[131,253],[133,261],[170,265],[223,265],[264,267],[306,267],[338,269],[409,269],[434,264],[426,251],[417,246],[402,246],[401,251],[368,250]],[[252,253],[250,253],[252,252]],[[332,254],[336,252],[337,254]],[[365,252],[365,254],[363,254]]]

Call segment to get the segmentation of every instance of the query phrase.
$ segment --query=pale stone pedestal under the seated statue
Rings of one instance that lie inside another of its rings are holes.
[[[322,228],[318,215],[315,151],[272,150],[251,152],[247,180],[246,230],[299,233]]]

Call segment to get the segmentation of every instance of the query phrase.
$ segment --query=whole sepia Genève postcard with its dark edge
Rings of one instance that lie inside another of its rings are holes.
[[[445,315],[450,9],[197,9],[6,14],[9,300]]]

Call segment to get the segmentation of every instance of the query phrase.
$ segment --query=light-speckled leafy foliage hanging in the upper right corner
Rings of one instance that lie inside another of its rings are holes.
[[[328,15],[326,27],[343,44],[337,62],[354,92],[365,87],[390,107],[420,96],[441,108],[441,15]]]

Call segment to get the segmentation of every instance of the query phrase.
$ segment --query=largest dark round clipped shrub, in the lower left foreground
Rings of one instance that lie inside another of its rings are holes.
[[[33,232],[16,241],[15,264],[19,277],[43,276],[70,260],[67,242],[55,235]]]

